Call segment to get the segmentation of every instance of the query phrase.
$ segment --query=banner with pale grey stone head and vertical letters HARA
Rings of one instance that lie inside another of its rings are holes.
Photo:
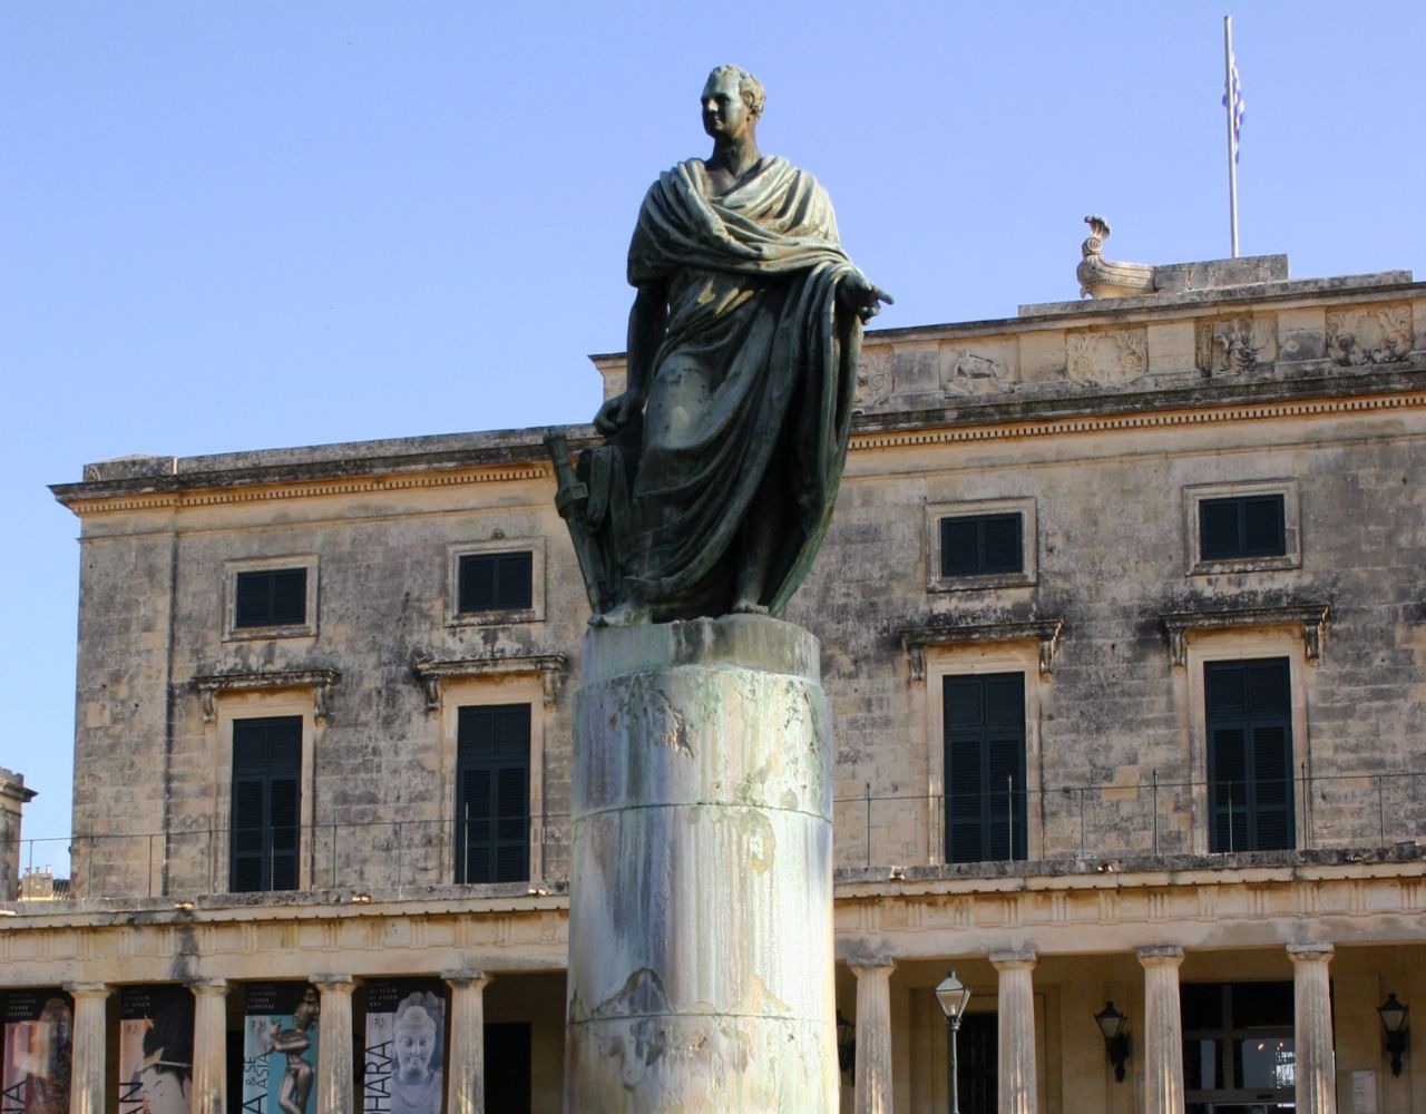
[[[362,1114],[441,1114],[443,1051],[445,983],[368,983]]]

